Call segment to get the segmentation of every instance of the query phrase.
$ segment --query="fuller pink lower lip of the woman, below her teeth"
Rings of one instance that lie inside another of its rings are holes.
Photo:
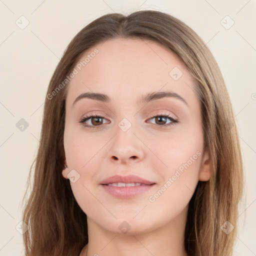
[[[139,186],[111,186],[101,184],[107,193],[116,198],[132,198],[138,194],[142,194],[150,190],[155,185],[156,184]]]

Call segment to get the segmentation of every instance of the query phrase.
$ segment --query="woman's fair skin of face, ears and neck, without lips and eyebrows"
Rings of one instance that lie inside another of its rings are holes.
[[[89,242],[80,256],[184,256],[188,202],[198,180],[210,178],[193,78],[174,53],[151,40],[109,39],[84,52],[80,60],[94,48],[99,52],[72,78],[66,97],[64,149],[68,167],[62,175],[68,178],[72,169],[80,175],[70,182],[87,215]],[[169,75],[175,66],[183,73],[178,80]],[[187,105],[174,97],[137,102],[141,95],[153,91],[176,92]],[[72,105],[83,92],[105,93],[111,101],[83,98]],[[89,119],[86,124],[96,128],[87,128],[79,120],[90,113],[105,119],[99,126],[95,118]],[[171,120],[157,122],[150,116],[162,113],[179,122],[161,128]],[[131,124],[125,132],[118,126],[122,118]],[[155,201],[149,201],[149,196],[197,151],[197,159]],[[156,188],[129,199],[115,198],[99,185],[114,174],[135,174],[154,181]],[[118,228],[123,221],[131,227],[125,234]]]

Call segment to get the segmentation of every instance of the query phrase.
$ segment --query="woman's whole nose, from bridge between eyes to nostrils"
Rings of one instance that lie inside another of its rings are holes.
[[[122,118],[116,126],[115,136],[111,140],[108,158],[122,162],[130,159],[141,160],[143,157],[143,146],[141,141],[133,134],[135,131],[135,118]]]

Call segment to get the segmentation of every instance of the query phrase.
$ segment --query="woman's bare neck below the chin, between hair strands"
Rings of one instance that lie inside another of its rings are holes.
[[[87,217],[89,242],[79,256],[187,256],[184,250],[186,216],[187,208],[157,229],[140,234],[130,229],[129,235],[110,232]]]

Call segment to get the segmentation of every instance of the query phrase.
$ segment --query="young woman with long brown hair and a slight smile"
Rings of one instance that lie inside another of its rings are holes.
[[[106,14],[50,80],[25,255],[230,256],[242,184],[207,46],[167,13]]]

